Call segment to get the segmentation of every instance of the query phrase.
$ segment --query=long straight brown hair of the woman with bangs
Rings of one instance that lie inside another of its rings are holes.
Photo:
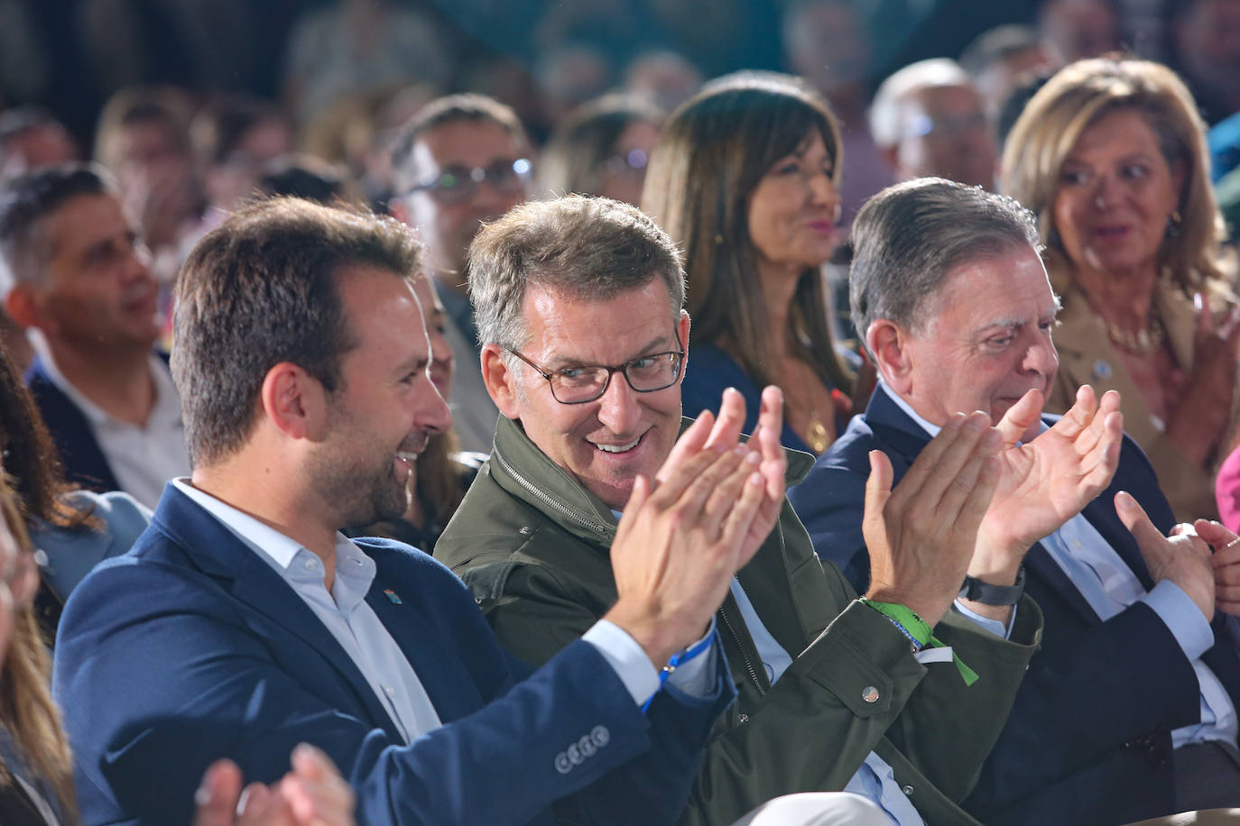
[[[749,237],[749,197],[811,133],[822,136],[838,186],[839,130],[826,102],[799,78],[740,72],[672,113],[646,173],[642,209],[683,250],[692,339],[730,343],[759,386],[771,383],[770,342],[781,333],[823,380],[852,385],[831,338],[820,271],[810,267],[797,281],[787,331],[769,329]]]

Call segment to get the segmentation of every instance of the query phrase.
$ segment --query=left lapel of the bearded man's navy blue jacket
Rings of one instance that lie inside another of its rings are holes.
[[[171,537],[208,576],[253,613],[275,623],[322,656],[348,685],[370,722],[403,739],[391,716],[331,632],[270,565],[170,482],[151,524]],[[255,628],[264,633],[264,629]]]

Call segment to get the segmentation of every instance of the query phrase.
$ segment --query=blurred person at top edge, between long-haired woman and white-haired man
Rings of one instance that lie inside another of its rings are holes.
[[[843,235],[866,198],[893,183],[892,171],[869,131],[872,54],[869,32],[849,0],[801,0],[784,14],[789,69],[831,104],[839,124],[847,167],[839,178]]]

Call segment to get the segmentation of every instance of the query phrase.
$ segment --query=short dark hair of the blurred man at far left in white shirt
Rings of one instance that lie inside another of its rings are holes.
[[[112,176],[94,163],[64,163],[26,172],[0,183],[0,296],[19,282],[33,284],[46,275],[46,244],[41,222],[61,206],[83,194],[112,194]]]

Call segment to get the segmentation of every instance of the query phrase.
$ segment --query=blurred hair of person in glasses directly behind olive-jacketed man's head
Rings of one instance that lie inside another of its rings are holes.
[[[574,110],[538,159],[538,182],[552,194],[600,194],[601,167],[630,124],[658,126],[663,111],[636,95],[609,94]]]

